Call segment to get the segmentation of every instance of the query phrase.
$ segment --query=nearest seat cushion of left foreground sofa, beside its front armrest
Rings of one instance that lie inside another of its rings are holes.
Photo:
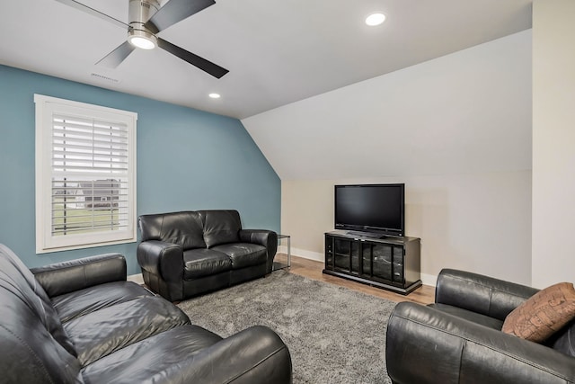
[[[84,367],[86,382],[181,382],[182,367],[222,338],[199,326],[179,326],[131,344]],[[179,368],[178,368],[179,367]]]

